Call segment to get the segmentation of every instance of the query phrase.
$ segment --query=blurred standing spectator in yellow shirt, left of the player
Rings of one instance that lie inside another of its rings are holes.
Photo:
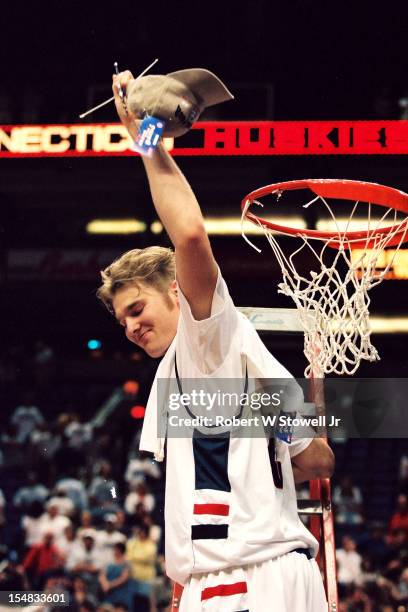
[[[131,576],[136,581],[136,609],[139,610],[139,605],[141,609],[149,610],[146,605],[150,600],[156,576],[157,546],[149,538],[149,529],[146,526],[137,527],[135,536],[128,540],[126,558],[130,564]]]

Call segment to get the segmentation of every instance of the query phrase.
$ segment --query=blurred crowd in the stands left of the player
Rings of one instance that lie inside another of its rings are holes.
[[[50,423],[31,393],[6,425],[0,589],[68,591],[73,612],[167,610],[162,467],[138,451],[140,427],[124,464],[106,429],[73,413]]]

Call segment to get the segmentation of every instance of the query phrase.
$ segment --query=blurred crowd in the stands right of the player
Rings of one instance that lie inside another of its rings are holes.
[[[401,463],[406,460],[402,458]],[[388,524],[365,524],[360,488],[349,476],[333,491],[340,612],[408,610],[407,480]]]

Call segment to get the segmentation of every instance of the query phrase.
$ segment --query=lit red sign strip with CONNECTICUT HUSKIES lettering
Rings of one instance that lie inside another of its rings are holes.
[[[408,121],[201,121],[172,155],[406,155]],[[119,123],[2,125],[0,157],[137,155]]]

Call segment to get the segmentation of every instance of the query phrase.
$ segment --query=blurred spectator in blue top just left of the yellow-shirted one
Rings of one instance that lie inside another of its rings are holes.
[[[123,542],[114,545],[113,562],[99,574],[99,583],[104,592],[104,603],[125,604],[132,609],[133,584],[125,551],[126,545]]]

